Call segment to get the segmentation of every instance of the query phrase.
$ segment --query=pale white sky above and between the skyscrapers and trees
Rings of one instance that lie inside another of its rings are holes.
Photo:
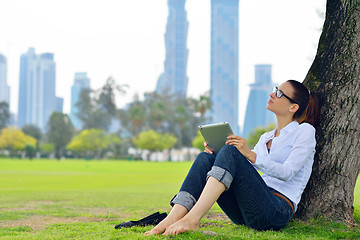
[[[210,88],[210,0],[187,0],[188,96]],[[272,78],[303,81],[315,57],[326,0],[240,0],[239,124],[244,121],[255,64],[272,64]],[[127,84],[119,107],[155,90],[164,69],[167,0],[0,0],[0,53],[8,61],[10,110],[17,113],[20,55],[51,52],[56,95],[70,112],[75,72],[93,89],[112,76]]]

